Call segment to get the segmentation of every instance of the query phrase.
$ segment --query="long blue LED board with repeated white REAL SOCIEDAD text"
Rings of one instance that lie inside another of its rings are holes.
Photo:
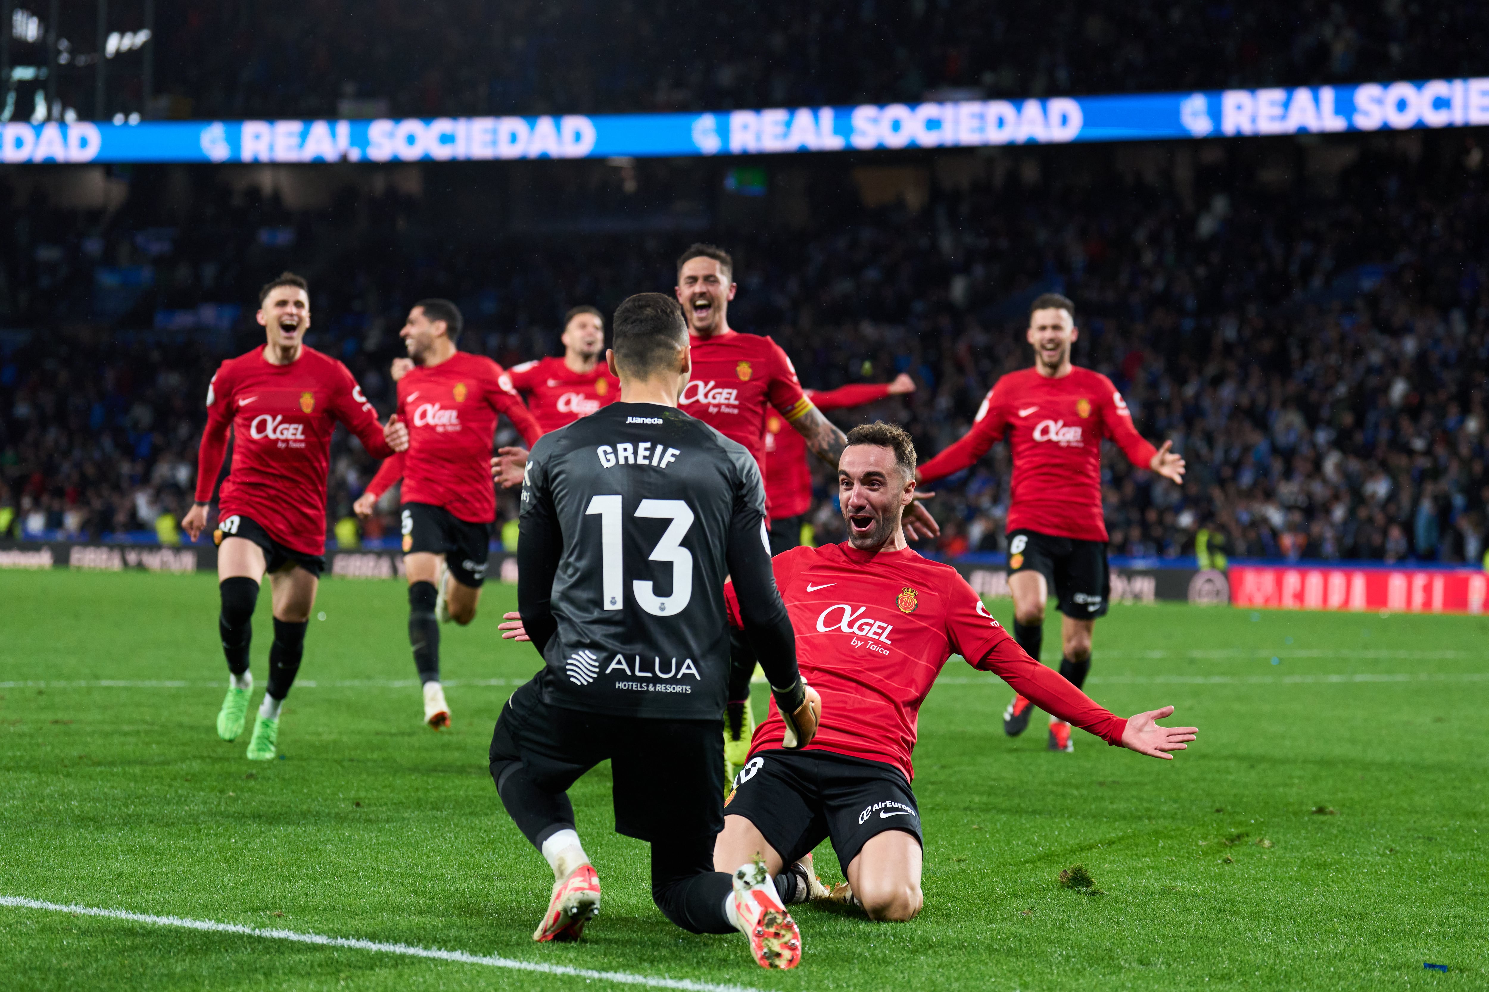
[[[715,113],[171,120],[0,128],[0,161],[448,162],[794,155],[1489,125],[1489,77]]]

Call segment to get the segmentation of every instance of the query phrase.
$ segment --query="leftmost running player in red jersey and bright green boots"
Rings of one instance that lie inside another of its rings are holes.
[[[249,759],[274,757],[284,696],[305,651],[305,623],[326,567],[326,471],[337,422],[357,436],[374,458],[393,455],[405,440],[378,425],[351,372],[304,344],[310,329],[310,289],[284,272],[259,290],[258,321],[268,344],[223,361],[207,387],[207,427],[197,457],[197,503],[182,519],[195,541],[207,528],[211,489],[232,430],[232,468],[217,498],[217,589],[228,696],[217,712],[217,736],[243,732],[253,675],[249,642],[264,573],[274,592],[270,683],[249,739]],[[387,433],[387,437],[384,437]],[[392,442],[392,443],[390,443]]]

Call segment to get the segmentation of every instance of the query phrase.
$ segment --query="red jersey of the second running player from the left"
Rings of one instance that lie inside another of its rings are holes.
[[[398,381],[398,418],[408,425],[408,451],[383,463],[368,483],[374,497],[404,479],[404,503],[439,506],[469,524],[496,519],[491,442],[500,413],[529,446],[543,430],[485,355],[457,351]]]

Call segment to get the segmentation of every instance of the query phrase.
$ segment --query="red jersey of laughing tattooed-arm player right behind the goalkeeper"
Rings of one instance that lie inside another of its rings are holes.
[[[692,378],[677,399],[683,413],[737,440],[765,474],[765,413],[770,408],[794,421],[812,406],[791,358],[770,338],[725,330],[712,338],[688,335]],[[777,516],[765,491],[765,513]]]

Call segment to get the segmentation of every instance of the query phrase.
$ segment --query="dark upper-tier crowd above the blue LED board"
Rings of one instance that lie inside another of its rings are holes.
[[[624,113],[947,91],[1297,86],[1473,74],[1482,16],[1465,0],[764,0],[700,24],[680,3],[162,0],[156,73],[158,91],[191,97],[198,117],[331,116],[338,104],[350,116]]]

